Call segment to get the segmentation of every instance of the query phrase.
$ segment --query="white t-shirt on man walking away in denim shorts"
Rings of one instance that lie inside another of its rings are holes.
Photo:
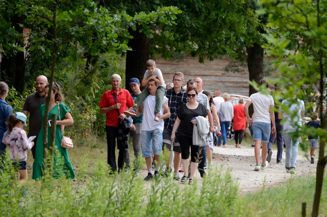
[[[274,105],[274,99],[270,95],[263,93],[254,93],[248,99],[253,104],[254,117],[253,122],[269,123],[270,120],[270,106]]]

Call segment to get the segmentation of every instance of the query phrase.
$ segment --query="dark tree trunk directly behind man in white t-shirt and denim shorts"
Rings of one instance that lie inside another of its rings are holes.
[[[253,47],[246,47],[248,53],[248,69],[249,69],[249,80],[259,83],[263,78],[263,63],[264,63],[264,49],[257,43],[253,44]],[[249,96],[257,91],[249,85]],[[252,117],[253,105],[249,107],[249,115]]]

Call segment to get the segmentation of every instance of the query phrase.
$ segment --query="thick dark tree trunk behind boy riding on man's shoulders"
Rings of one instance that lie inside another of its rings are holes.
[[[129,79],[138,78],[140,83],[146,71],[146,61],[149,59],[150,39],[140,32],[141,27],[137,27],[136,31],[129,28],[128,32],[132,39],[129,39],[128,46],[132,50],[126,53],[126,89],[131,91],[129,87]],[[142,88],[143,89],[143,88]]]

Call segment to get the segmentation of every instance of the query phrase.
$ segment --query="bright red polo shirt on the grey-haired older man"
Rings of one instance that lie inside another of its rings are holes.
[[[127,110],[127,108],[134,106],[134,101],[133,101],[133,98],[130,95],[129,91],[126,89],[120,88],[118,95],[117,95],[117,92],[114,91],[113,89],[106,91],[102,95],[101,101],[99,103],[99,106],[101,108],[107,108],[107,107],[110,107],[110,106],[113,106],[116,104],[116,101],[113,98],[112,93],[116,95],[117,102],[121,104],[121,106],[119,108],[119,112],[121,114],[123,114],[124,111]],[[109,111],[106,114],[106,116],[107,116],[106,125],[112,126],[112,127],[118,127],[118,122],[119,122],[118,116],[119,115],[118,115],[117,109],[112,109],[111,111]]]

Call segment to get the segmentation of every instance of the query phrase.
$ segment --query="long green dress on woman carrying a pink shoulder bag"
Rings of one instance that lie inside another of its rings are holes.
[[[70,112],[69,108],[64,104],[61,103],[59,104],[60,106],[60,116],[61,116],[61,120],[65,120],[65,115],[67,112]],[[40,106],[39,112],[41,113],[41,118],[40,121],[44,120],[44,112],[45,112],[45,104]],[[49,116],[48,116],[48,120],[51,120],[51,116],[52,114],[57,114],[57,120],[59,121],[59,109],[58,109],[58,105],[54,106],[50,112],[49,112]],[[44,124],[44,123],[43,123]],[[48,124],[48,123],[45,123]],[[48,149],[49,149],[49,143],[50,143],[50,130],[51,127],[48,127]],[[67,178],[75,178],[75,173],[74,173],[74,169],[72,167],[72,164],[70,163],[69,160],[69,155],[68,155],[68,151],[67,148],[62,148],[61,147],[61,139],[62,139],[62,134],[61,134],[61,129],[60,129],[60,125],[57,125],[56,128],[56,141],[55,141],[55,164],[56,165],[56,161],[59,160],[58,156],[56,155],[56,151],[59,150],[60,155],[61,155],[61,159],[63,160],[63,170],[64,171],[58,171],[58,168],[56,168],[56,173],[65,173],[67,175]],[[40,131],[40,134],[38,136],[38,140],[36,143],[36,150],[35,150],[35,159],[34,159],[34,163],[33,163],[33,175],[32,175],[32,179],[38,180],[42,177],[42,164],[43,164],[43,125]]]

